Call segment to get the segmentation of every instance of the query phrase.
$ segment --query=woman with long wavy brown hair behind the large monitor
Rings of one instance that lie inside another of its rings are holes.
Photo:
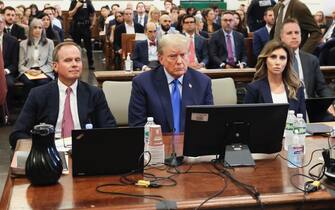
[[[289,103],[306,120],[304,87],[292,69],[290,49],[278,41],[265,45],[258,57],[254,81],[246,86],[244,103]]]

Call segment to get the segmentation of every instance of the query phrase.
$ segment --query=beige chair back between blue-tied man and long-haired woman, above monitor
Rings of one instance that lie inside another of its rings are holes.
[[[214,105],[236,104],[236,88],[231,77],[212,79]]]

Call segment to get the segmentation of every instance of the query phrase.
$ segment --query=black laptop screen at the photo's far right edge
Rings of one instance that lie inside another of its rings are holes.
[[[327,110],[334,100],[335,97],[307,98],[305,101],[309,122],[333,121],[334,117]]]

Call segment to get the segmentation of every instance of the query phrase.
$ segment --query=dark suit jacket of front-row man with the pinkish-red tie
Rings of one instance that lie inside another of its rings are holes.
[[[78,81],[77,104],[82,128],[91,123],[94,128],[115,127],[115,119],[108,108],[101,89]],[[57,81],[33,88],[21,110],[10,134],[10,144],[15,148],[16,141],[31,138],[30,130],[40,123],[57,123],[59,111],[59,90]]]

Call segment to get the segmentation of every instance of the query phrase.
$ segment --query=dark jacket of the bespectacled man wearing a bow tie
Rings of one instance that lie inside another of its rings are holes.
[[[131,57],[134,63],[134,69],[142,70],[142,67],[144,65],[148,65],[149,63],[148,41],[147,40],[136,41],[135,48]]]

